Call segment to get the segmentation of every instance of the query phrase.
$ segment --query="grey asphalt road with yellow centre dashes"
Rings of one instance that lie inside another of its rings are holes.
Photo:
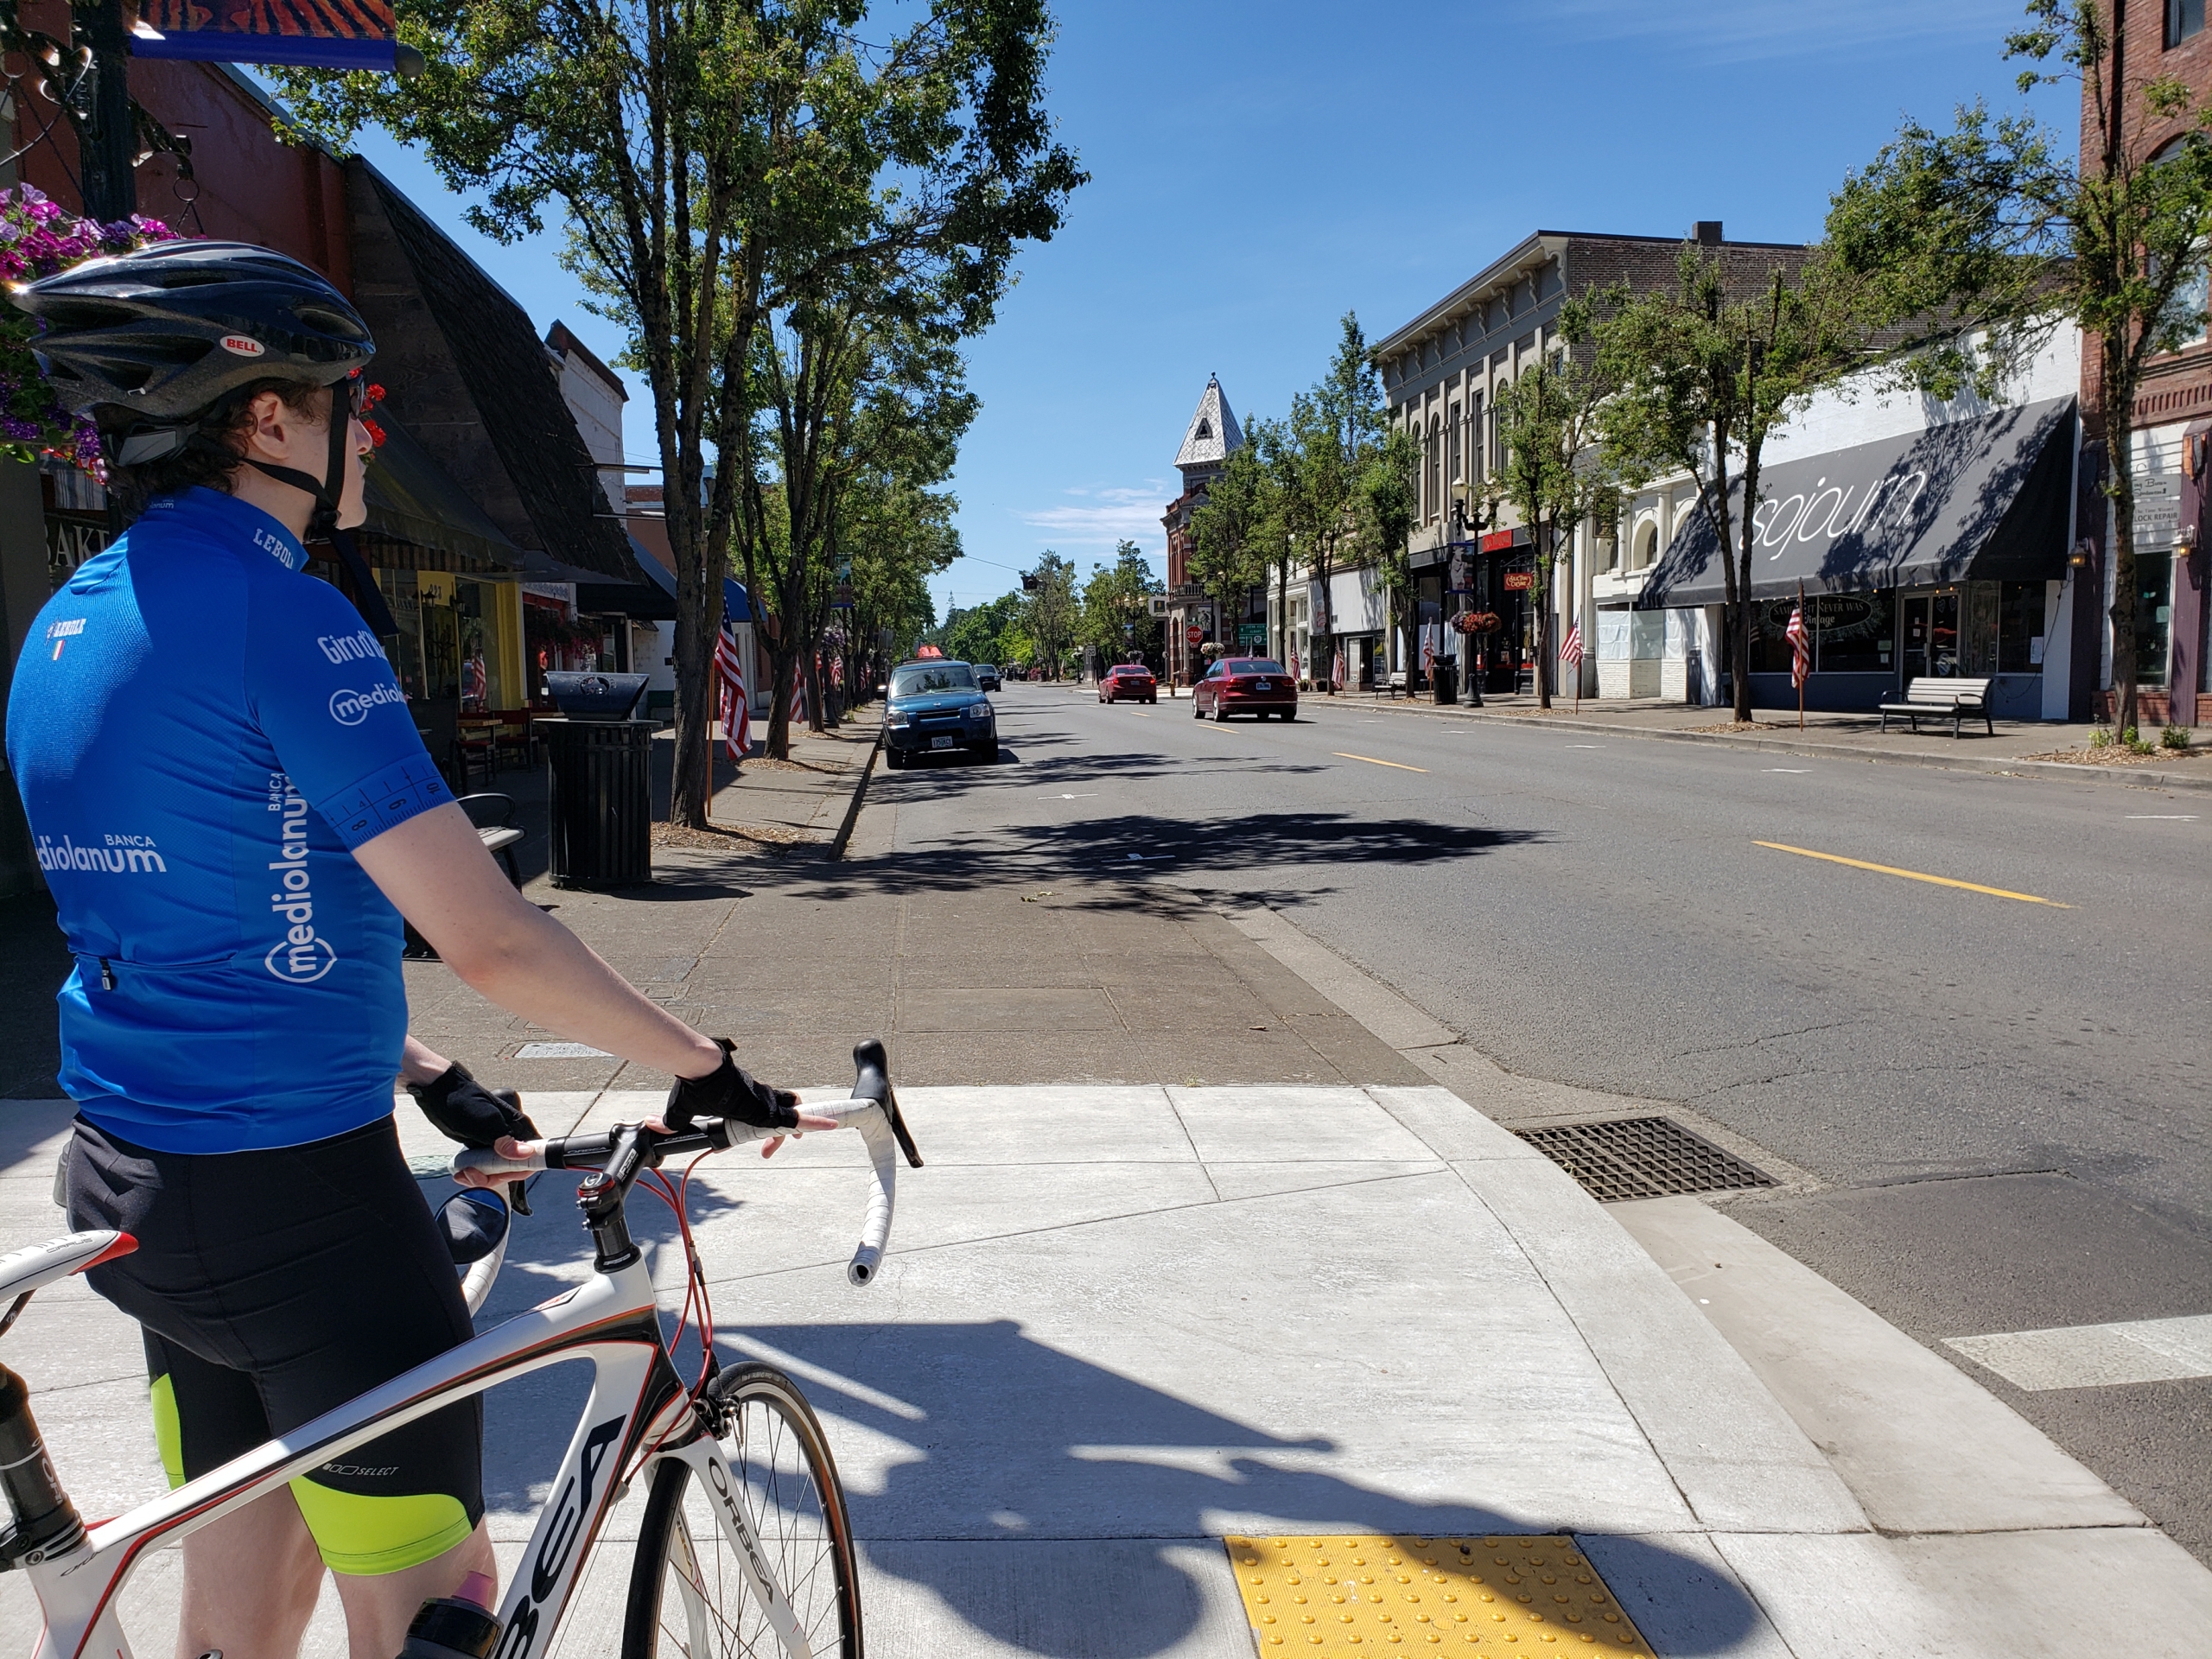
[[[2212,1314],[2212,812],[1365,699],[1225,728],[998,703],[998,765],[878,776],[902,858],[1141,860],[1283,911],[1511,1073],[1730,1137],[1785,1179],[1730,1214],[2212,1559],[2212,1383],[2028,1391],[1942,1347]]]

